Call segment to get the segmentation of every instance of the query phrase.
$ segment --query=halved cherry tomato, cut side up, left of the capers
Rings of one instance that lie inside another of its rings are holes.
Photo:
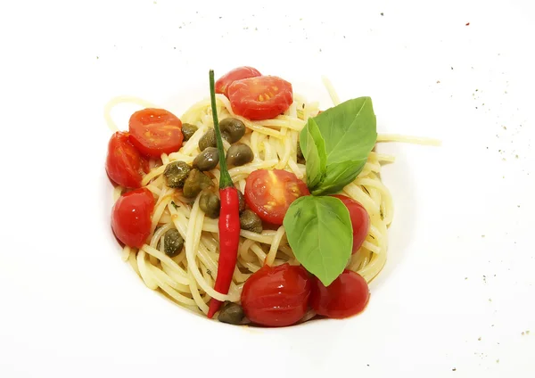
[[[182,122],[163,109],[136,111],[128,122],[130,142],[146,156],[177,152],[182,146]]]

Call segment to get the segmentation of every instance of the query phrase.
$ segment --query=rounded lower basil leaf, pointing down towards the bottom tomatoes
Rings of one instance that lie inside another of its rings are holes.
[[[283,224],[295,258],[325,286],[331,284],[351,257],[353,228],[346,206],[335,197],[300,197]]]

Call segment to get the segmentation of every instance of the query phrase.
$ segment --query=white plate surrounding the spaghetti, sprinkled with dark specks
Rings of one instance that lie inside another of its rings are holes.
[[[534,376],[529,4],[179,3],[0,12],[0,376]],[[221,325],[119,259],[104,103],[180,113],[208,95],[210,68],[243,64],[327,106],[325,74],[342,99],[372,96],[379,132],[443,141],[380,147],[398,157],[383,175],[396,215],[360,316]]]

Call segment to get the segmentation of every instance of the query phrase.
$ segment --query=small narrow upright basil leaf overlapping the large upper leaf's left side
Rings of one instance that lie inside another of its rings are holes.
[[[305,132],[307,149],[303,152],[307,157],[307,186],[314,188],[322,182],[326,173],[325,141],[319,132],[316,121],[312,118],[308,120]]]

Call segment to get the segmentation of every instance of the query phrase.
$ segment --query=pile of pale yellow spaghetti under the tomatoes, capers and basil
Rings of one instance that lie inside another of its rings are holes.
[[[333,103],[339,103],[333,86],[324,78]],[[235,186],[242,192],[245,180],[251,172],[263,168],[284,169],[302,179],[306,176],[305,165],[298,162],[297,145],[300,130],[305,127],[307,119],[317,115],[317,103],[308,103],[295,94],[293,103],[283,115],[274,119],[250,120],[233,111],[231,103],[223,94],[217,94],[217,112],[219,119],[233,117],[240,119],[247,131],[241,139],[254,154],[254,159],[243,166],[230,168],[229,173]],[[119,103],[137,103],[142,106],[152,105],[135,97],[121,96],[111,100],[105,107],[105,119],[112,130],[117,130],[111,119],[111,110]],[[122,259],[128,261],[144,284],[152,290],[164,293],[170,300],[180,306],[200,314],[208,313],[211,298],[220,301],[239,302],[245,281],[264,264],[278,266],[285,262],[299,265],[292,248],[286,239],[284,226],[276,230],[264,230],[261,234],[241,230],[238,259],[232,283],[227,294],[213,289],[218,275],[218,221],[205,217],[200,208],[200,197],[187,199],[181,191],[166,185],[163,173],[169,163],[182,160],[191,164],[200,152],[198,148],[201,137],[213,127],[210,101],[195,103],[180,118],[183,122],[197,127],[193,136],[177,152],[162,153],[161,160],[150,161],[150,171],[142,178],[141,185],[155,197],[155,206],[151,218],[151,234],[140,248],[125,246]],[[404,136],[379,136],[378,142],[404,141],[434,144],[432,140],[407,138]],[[230,144],[224,142],[225,151]],[[393,201],[388,188],[381,181],[383,163],[392,162],[394,158],[378,152],[370,152],[366,165],[358,177],[343,188],[343,193],[358,201],[366,209],[370,225],[366,240],[357,253],[353,254],[347,268],[357,272],[370,282],[383,269],[387,259],[388,227],[393,218]],[[210,177],[217,186],[218,168],[210,170]],[[116,187],[114,200],[124,192],[123,187]],[[185,240],[185,249],[170,258],[164,251],[165,234],[172,228]],[[302,320],[314,316],[309,312]]]

